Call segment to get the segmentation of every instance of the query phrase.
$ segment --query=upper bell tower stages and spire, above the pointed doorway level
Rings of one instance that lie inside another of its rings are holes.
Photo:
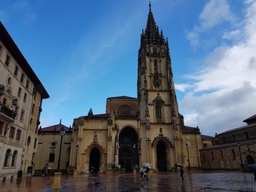
[[[173,84],[168,39],[155,23],[151,4],[145,31],[142,29],[138,59],[138,98],[141,120],[170,123],[178,119],[178,104]]]

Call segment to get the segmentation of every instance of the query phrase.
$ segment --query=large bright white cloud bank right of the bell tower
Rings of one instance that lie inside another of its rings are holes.
[[[190,92],[181,101],[181,111],[190,111],[185,122],[204,134],[245,125],[242,120],[256,114],[256,2],[245,5],[245,25],[237,29],[244,38],[229,35],[234,44],[215,47],[204,69],[190,74],[194,84],[186,86]]]

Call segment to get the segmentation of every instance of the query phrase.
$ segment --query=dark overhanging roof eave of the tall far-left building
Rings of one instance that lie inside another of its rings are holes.
[[[25,57],[20,52],[19,48],[14,43],[13,39],[11,38],[11,36],[9,35],[8,31],[5,29],[5,26],[2,24],[1,21],[0,21],[0,41],[2,41],[2,43],[8,49],[8,51],[11,53],[11,55],[20,65],[20,68],[23,69],[24,72],[26,72],[26,75],[33,82],[33,84],[35,84],[35,87],[38,90],[38,92],[41,94],[41,97],[43,99],[49,98],[50,96],[45,90],[43,84],[41,84],[41,81],[35,75],[35,72],[29,66],[29,63],[26,61]]]

